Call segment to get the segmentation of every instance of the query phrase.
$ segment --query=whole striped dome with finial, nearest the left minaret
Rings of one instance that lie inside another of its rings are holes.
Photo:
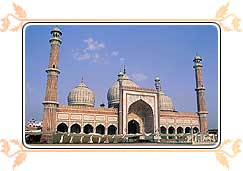
[[[85,84],[72,89],[68,94],[68,105],[92,106],[95,104],[95,95]]]

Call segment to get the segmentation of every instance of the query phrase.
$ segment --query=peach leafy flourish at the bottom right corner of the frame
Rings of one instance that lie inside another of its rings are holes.
[[[223,148],[229,144],[231,145],[231,152],[227,152],[226,150],[223,150]],[[237,154],[241,152],[240,144],[241,144],[241,139],[236,139],[236,140],[227,139],[222,143],[219,149],[215,152],[216,159],[220,162],[221,165],[227,167],[228,170],[230,168],[229,158],[235,158]]]

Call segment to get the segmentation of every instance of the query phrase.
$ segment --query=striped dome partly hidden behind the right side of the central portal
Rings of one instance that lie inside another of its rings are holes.
[[[164,111],[174,111],[174,105],[169,96],[166,96],[164,92],[160,91],[159,94],[159,109]]]

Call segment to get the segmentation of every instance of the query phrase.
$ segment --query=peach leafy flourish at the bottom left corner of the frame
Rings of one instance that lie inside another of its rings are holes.
[[[3,153],[7,158],[14,159],[12,163],[13,170],[25,161],[27,154],[24,146],[18,140],[1,139],[0,145],[0,153]],[[16,146],[17,149],[12,150],[13,146]]]

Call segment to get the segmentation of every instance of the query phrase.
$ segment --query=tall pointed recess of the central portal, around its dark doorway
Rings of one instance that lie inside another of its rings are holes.
[[[129,106],[128,121],[130,122],[132,120],[138,122],[140,133],[154,133],[153,109],[142,99]]]

